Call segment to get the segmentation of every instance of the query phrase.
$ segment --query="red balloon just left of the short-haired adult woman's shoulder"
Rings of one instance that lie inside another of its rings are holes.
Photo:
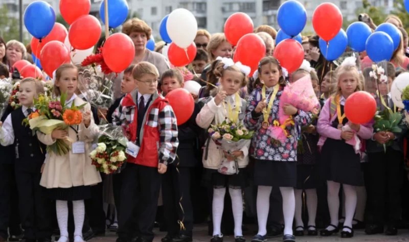
[[[106,39],[102,56],[109,69],[121,72],[132,63],[135,57],[135,45],[126,34],[115,33]]]

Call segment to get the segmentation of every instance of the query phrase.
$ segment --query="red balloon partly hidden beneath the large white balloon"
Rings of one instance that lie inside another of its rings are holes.
[[[195,59],[196,51],[195,43],[191,43],[187,49],[182,49],[175,43],[171,43],[168,50],[169,62],[177,67],[188,65]]]

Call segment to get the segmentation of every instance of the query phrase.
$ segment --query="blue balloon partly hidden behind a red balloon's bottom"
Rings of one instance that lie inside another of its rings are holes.
[[[328,61],[333,61],[338,59],[347,49],[348,37],[343,29],[341,29],[338,34],[335,35],[333,39],[327,42],[320,38],[319,46],[320,51]]]

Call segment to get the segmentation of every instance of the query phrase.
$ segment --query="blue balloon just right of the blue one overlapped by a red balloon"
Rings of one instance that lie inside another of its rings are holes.
[[[353,51],[365,51],[365,44],[371,34],[371,28],[366,23],[353,22],[347,29],[348,45]]]

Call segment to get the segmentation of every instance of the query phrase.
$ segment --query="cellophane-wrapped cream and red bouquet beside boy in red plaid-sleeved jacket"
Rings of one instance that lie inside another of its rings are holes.
[[[101,136],[98,138],[98,146],[89,153],[89,157],[97,171],[105,174],[116,173],[126,160],[124,151],[128,140],[119,126],[102,125],[99,130]]]

